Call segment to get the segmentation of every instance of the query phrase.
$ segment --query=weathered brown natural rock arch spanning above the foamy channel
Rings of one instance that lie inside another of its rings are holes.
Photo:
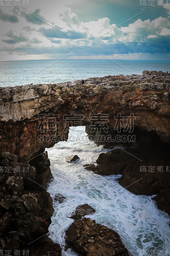
[[[1,87],[1,150],[26,162],[67,140],[69,126],[90,124],[90,115],[97,113],[108,115],[112,132],[118,113],[129,118],[133,113],[134,127],[170,142],[170,74],[144,71],[142,76],[93,77],[84,82]],[[66,115],[80,115],[82,120],[71,124]]]

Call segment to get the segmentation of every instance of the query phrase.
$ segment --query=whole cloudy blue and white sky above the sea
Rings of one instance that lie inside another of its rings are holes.
[[[170,0],[0,0],[0,60],[170,60],[169,18]]]

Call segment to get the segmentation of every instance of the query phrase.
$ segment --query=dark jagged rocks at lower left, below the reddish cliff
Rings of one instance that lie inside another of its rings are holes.
[[[33,162],[36,168],[18,162],[9,152],[0,155],[0,250],[4,255],[7,250],[22,249],[29,250],[31,256],[41,256],[42,252],[61,256],[61,247],[46,236],[54,212],[45,188],[49,172],[51,177],[47,152]],[[34,244],[41,236],[43,239]]]

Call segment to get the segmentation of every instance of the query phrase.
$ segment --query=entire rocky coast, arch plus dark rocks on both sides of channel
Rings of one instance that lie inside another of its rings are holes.
[[[61,255],[61,247],[46,235],[54,209],[46,191],[52,176],[45,148],[67,140],[71,125],[86,125],[89,138],[114,148],[122,141],[112,139],[120,134],[129,135],[132,128],[130,125],[125,133],[115,129],[115,116],[120,121],[118,113],[127,120],[131,113],[135,116],[132,133],[136,136],[135,142],[126,141],[123,150],[101,154],[97,167],[86,168],[102,175],[122,174],[119,182],[123,187],[135,194],[158,194],[155,198],[158,207],[170,214],[169,74],[144,71],[142,76],[88,78],[84,84],[78,80],[1,87],[0,99],[0,250],[11,250],[11,255],[14,250],[29,250],[31,256]],[[102,126],[104,133],[101,129],[99,132],[99,125],[93,131],[89,129],[92,114],[108,117],[108,122]],[[68,116],[79,116],[79,119],[76,123],[74,118],[67,119]],[[99,141],[98,135],[103,135],[104,140]],[[111,141],[106,140],[106,135]],[[148,172],[150,166],[157,170]],[[91,225],[92,220],[84,219],[86,221]],[[76,223],[82,225],[82,221]],[[79,253],[92,255],[82,248],[78,249]],[[112,254],[114,250],[112,248]],[[128,252],[120,253],[113,255],[128,255]]]

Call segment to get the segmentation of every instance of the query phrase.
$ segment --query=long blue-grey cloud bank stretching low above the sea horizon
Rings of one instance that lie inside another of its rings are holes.
[[[50,39],[51,40],[51,39]],[[169,45],[170,36],[159,36],[159,38],[149,38],[145,42],[119,42],[115,44],[105,44],[96,42],[92,44],[92,47],[89,47],[85,41],[84,45],[79,47],[67,45],[48,46],[48,47],[38,47],[32,46],[31,44],[26,44],[22,47],[2,47],[0,51],[6,52],[19,52],[21,54],[60,54],[60,53],[71,53],[71,56],[92,56],[99,55],[112,55],[112,54],[128,54],[128,53],[162,53],[168,54],[170,52]]]

